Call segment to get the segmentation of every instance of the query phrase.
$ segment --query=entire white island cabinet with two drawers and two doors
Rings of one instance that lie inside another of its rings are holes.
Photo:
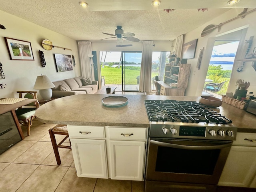
[[[68,125],[68,134],[77,176],[144,180],[147,128]]]

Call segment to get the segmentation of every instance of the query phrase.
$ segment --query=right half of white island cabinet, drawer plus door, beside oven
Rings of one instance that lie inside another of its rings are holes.
[[[110,178],[144,180],[147,128],[106,127]]]

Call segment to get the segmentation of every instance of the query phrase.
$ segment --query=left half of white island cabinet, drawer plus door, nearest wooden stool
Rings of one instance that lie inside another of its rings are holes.
[[[108,178],[104,127],[68,126],[78,177]]]

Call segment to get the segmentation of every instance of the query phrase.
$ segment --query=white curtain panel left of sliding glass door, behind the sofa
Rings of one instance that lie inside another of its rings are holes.
[[[82,77],[91,78],[94,80],[94,72],[91,76],[91,64],[88,54],[92,54],[92,42],[90,41],[78,41],[79,58],[81,63]],[[93,69],[92,69],[93,70]]]

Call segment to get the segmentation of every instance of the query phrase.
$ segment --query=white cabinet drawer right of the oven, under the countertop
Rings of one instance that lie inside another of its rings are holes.
[[[250,142],[249,140],[253,142]],[[234,146],[255,146],[256,147],[256,133],[237,133],[236,140],[233,142]]]

